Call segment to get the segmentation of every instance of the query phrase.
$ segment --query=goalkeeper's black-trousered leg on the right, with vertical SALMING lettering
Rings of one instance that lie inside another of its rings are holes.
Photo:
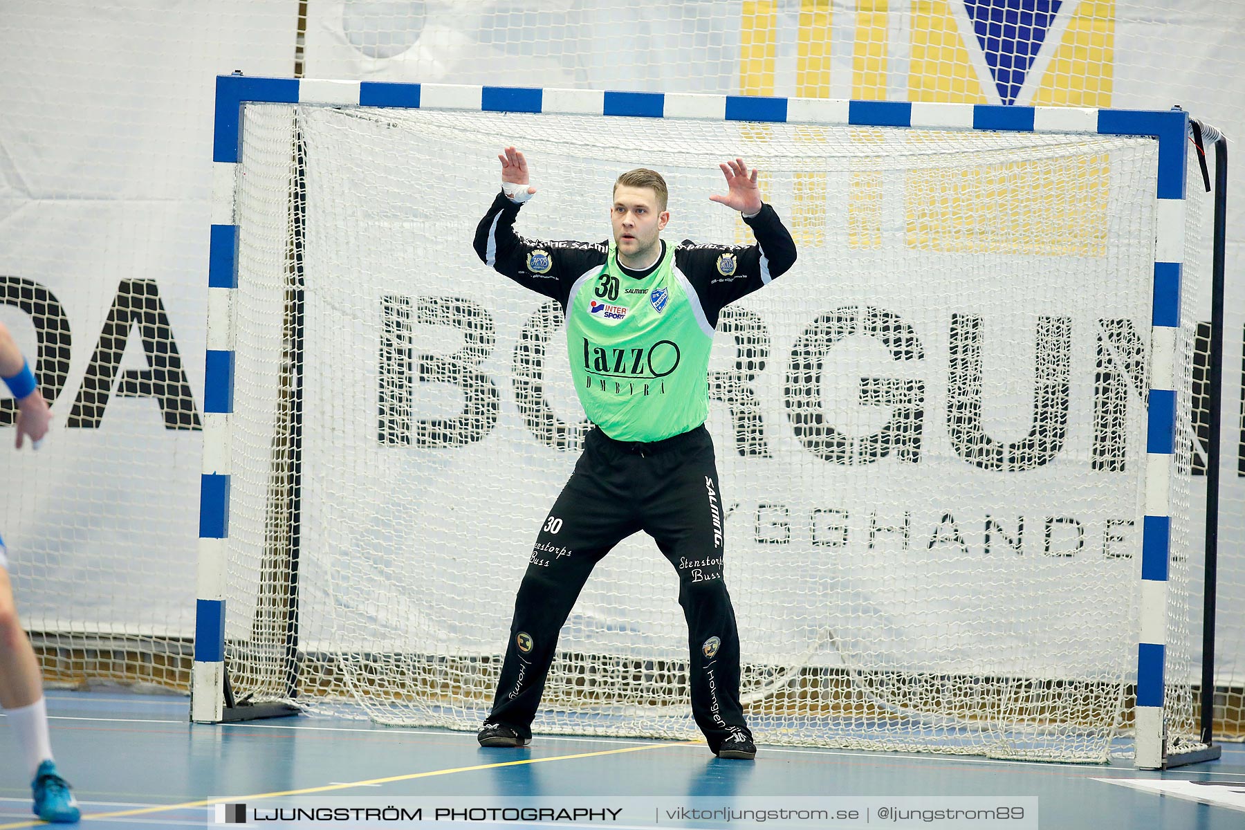
[[[740,635],[722,576],[726,511],[707,432],[645,465],[644,529],[679,574],[687,620],[692,716],[721,758],[752,758],[740,703]]]

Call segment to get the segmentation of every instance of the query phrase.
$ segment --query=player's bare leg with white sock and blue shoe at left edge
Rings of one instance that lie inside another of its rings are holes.
[[[17,620],[4,541],[0,540],[0,708],[31,776],[35,815],[44,821],[77,821],[78,806],[57,772],[47,734],[47,707],[35,650]]]

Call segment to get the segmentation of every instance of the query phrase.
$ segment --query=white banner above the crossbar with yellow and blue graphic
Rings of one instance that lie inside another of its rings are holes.
[[[1230,81],[1243,71],[1234,50],[1245,17],[1235,0],[1082,0],[1046,11],[962,0],[872,11],[860,5],[326,2],[308,20],[308,72],[661,92],[1182,106],[1229,137],[1245,134],[1245,102]],[[1199,178],[1189,187],[1200,188]],[[1245,188],[1230,184],[1229,275],[1245,261],[1245,239],[1231,231],[1243,226],[1243,205]],[[1236,683],[1245,682],[1245,604],[1234,601],[1245,592],[1245,287],[1239,282],[1230,280],[1226,306],[1216,626],[1220,677]],[[1209,309],[1205,296],[1199,309]]]

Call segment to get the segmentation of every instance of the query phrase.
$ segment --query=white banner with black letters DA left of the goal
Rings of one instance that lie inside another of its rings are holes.
[[[0,453],[19,609],[189,637],[215,75],[289,75],[296,4],[4,5],[0,322],[55,398]]]

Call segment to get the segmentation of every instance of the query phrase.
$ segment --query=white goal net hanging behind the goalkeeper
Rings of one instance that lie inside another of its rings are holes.
[[[248,105],[225,660],[235,692],[474,729],[586,424],[560,310],[486,268],[497,152],[529,238],[609,235],[615,177],[671,241],[749,243],[742,157],[799,250],[730,306],[708,428],[743,699],[766,743],[1103,760],[1135,707],[1157,143]],[[1190,185],[1191,189],[1191,185]],[[1184,291],[1209,233],[1190,199]],[[1196,315],[1177,343],[1167,681],[1196,734]],[[537,733],[688,738],[677,580],[598,566]],[[291,662],[291,653],[296,661]]]

